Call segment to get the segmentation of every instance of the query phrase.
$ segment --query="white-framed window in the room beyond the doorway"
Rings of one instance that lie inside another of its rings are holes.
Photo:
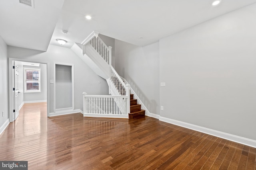
[[[41,92],[40,69],[24,68],[24,92]]]

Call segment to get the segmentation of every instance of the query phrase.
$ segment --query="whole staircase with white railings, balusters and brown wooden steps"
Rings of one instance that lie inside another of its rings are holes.
[[[133,119],[134,117],[144,116],[145,113],[149,114],[149,111],[142,104],[128,82],[121,78],[112,67],[112,47],[108,47],[98,37],[98,34],[98,32],[93,31],[81,44],[75,43],[71,48],[98,76],[104,78],[109,86],[109,96],[83,93],[84,117]],[[134,96],[138,100],[134,99]]]

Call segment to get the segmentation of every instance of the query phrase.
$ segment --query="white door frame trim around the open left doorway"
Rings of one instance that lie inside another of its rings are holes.
[[[46,64],[46,70],[47,70],[47,117],[50,116],[50,106],[49,106],[49,102],[50,102],[50,83],[49,83],[49,63],[48,62],[44,62],[44,61],[34,61],[34,60],[26,60],[26,59],[16,59],[16,58],[9,58],[8,59],[8,66],[9,66],[9,120],[10,122],[13,121],[13,108],[15,106],[13,106],[14,104],[14,98],[12,96],[12,80],[13,80],[13,74],[12,74],[12,63],[13,61],[24,61],[24,62],[31,62],[31,63],[40,63],[40,64]]]

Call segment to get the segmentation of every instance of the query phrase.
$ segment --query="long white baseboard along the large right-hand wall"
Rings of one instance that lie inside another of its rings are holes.
[[[233,141],[233,142],[236,142],[236,143],[240,143],[242,145],[247,145],[249,147],[256,148],[256,141],[254,141],[252,139],[247,139],[247,138],[244,138],[244,137],[239,137],[239,136],[236,136],[236,135],[232,135],[232,134],[228,134],[228,133],[224,133],[224,132],[220,132],[220,131],[215,131],[213,129],[208,129],[208,128],[205,128],[205,127],[193,125],[193,124],[190,124],[190,123],[185,123],[185,122],[182,122],[182,121],[177,121],[177,120],[174,120],[174,119],[169,119],[169,118],[162,117],[162,116],[160,116],[159,120],[167,122],[167,123],[171,123],[171,124],[174,124],[174,125],[178,125],[178,126],[181,126],[181,127],[185,127],[185,128],[188,128],[188,129],[192,129],[194,131],[199,131],[199,132],[202,132],[202,133],[206,133],[208,135],[220,137],[222,139],[226,139],[226,140]]]

